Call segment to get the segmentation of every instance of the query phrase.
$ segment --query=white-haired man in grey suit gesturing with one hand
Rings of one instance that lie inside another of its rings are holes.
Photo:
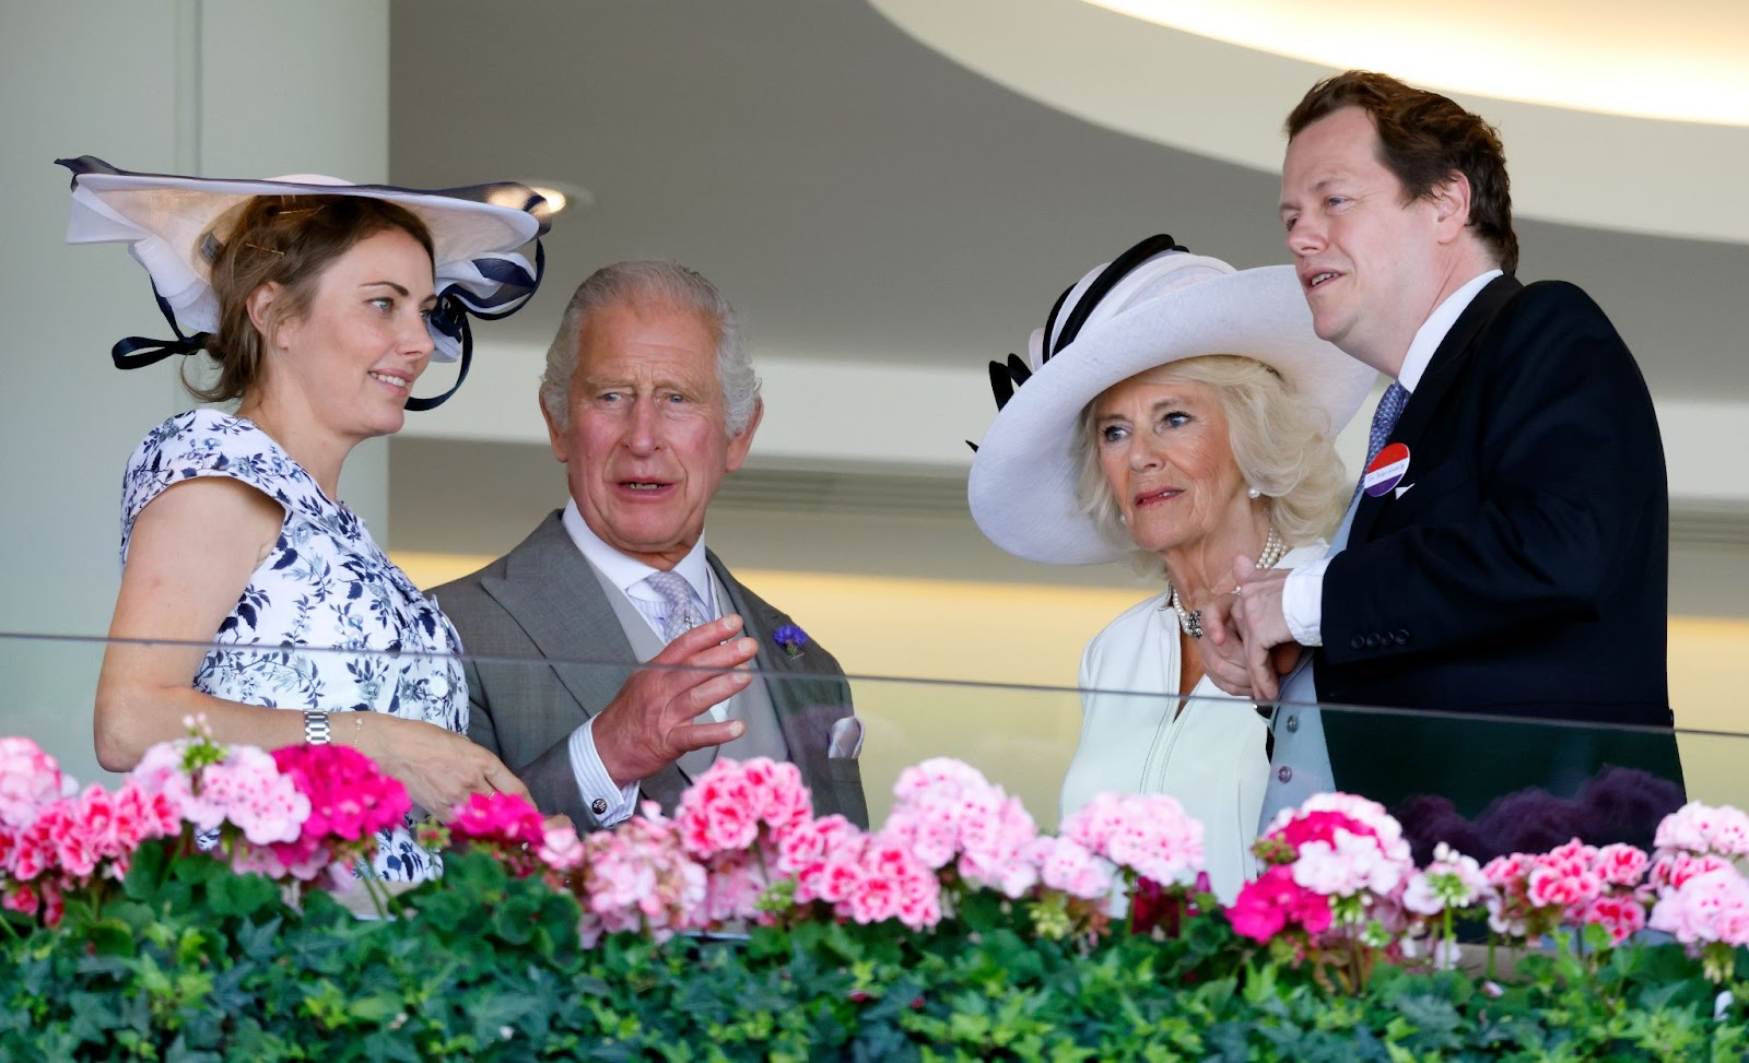
[[[792,761],[817,815],[866,827],[862,729],[838,661],[817,642],[778,645],[789,617],[705,549],[705,512],[763,414],[729,302],[672,262],[596,271],[547,350],[540,413],[570,502],[432,591],[479,657],[472,740],[579,830],[644,799],[672,811],[719,750]]]

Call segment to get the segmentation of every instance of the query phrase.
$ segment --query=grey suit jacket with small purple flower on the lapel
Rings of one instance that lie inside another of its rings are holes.
[[[852,715],[843,670],[817,642],[799,657],[780,650],[771,633],[791,619],[736,582],[715,554],[707,556],[745,633],[759,640],[754,666],[768,673],[766,691],[791,759],[813,790],[815,815],[841,813],[868,827],[857,762],[826,755],[833,724]],[[509,554],[430,596],[455,622],[467,652],[469,738],[528,785],[540,811],[565,813],[588,830],[595,818],[577,792],[570,733],[619,694],[637,656],[560,514],[549,514]],[[722,752],[733,757],[733,743]],[[670,764],[640,789],[640,799],[659,801],[672,813],[686,778]]]

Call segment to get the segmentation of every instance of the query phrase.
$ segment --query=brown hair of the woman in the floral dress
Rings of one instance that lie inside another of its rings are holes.
[[[203,238],[201,254],[212,261],[213,295],[219,299],[219,330],[206,341],[206,353],[219,364],[212,386],[184,385],[201,402],[240,399],[261,383],[268,336],[248,316],[248,297],[276,283],[285,294],[275,299],[268,334],[287,318],[310,309],[322,271],[360,240],[401,229],[432,254],[432,234],[408,208],[366,196],[255,196],[231,212]],[[219,236],[219,229],[227,234]]]

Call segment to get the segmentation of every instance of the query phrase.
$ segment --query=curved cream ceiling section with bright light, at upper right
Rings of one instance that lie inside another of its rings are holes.
[[[1350,2],[1340,19],[1291,0],[1202,10],[1147,0],[871,3],[1032,100],[1272,173],[1282,117],[1312,82],[1350,65],[1382,68],[1446,89],[1499,126],[1523,217],[1749,243],[1749,212],[1735,206],[1749,166],[1749,7],[1735,0],[1474,0],[1460,19],[1390,0]],[[1177,28],[1111,10],[1119,7]]]

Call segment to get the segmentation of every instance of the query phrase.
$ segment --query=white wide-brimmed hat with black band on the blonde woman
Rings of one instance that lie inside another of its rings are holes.
[[[1063,292],[1027,355],[990,364],[997,418],[967,497],[990,542],[1048,565],[1121,556],[1076,502],[1076,420],[1105,388],[1184,358],[1244,355],[1320,407],[1334,437],[1375,378],[1312,332],[1293,266],[1233,269],[1170,236],[1144,240]]]

